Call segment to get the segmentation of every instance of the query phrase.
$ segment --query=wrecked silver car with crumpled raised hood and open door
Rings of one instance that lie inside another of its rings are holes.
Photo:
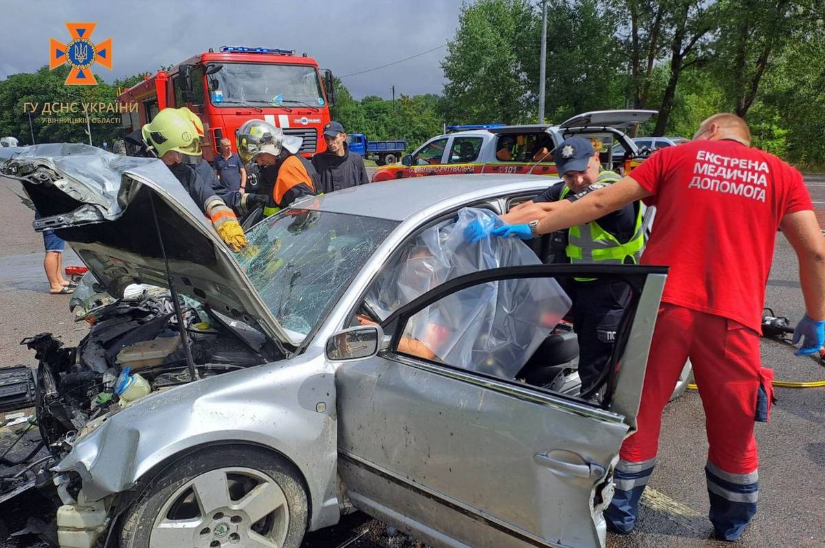
[[[235,255],[157,160],[51,145],[3,171],[101,288],[172,289],[93,310],[78,347],[28,341],[60,546],[296,548],[356,509],[431,546],[604,546],[666,276],[460,241],[546,177],[312,197]],[[573,276],[632,293],[587,394]]]

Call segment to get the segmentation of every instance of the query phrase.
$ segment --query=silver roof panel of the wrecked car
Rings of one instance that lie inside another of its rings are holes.
[[[460,174],[408,177],[312,196],[293,207],[403,221],[446,201],[477,201],[558,182],[543,175]],[[402,197],[403,196],[403,197]]]

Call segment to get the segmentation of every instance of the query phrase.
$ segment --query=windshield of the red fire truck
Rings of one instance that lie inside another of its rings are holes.
[[[207,78],[214,106],[324,104],[321,80],[312,65],[226,63]]]

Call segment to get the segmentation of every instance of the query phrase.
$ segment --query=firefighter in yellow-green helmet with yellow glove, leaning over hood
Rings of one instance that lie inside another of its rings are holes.
[[[166,164],[192,200],[210,218],[220,239],[237,253],[247,245],[238,218],[226,202],[214,192],[209,182],[200,177],[195,168],[182,162],[183,154],[201,154],[197,127],[191,117],[181,112],[182,110],[185,109],[167,108],[158,112],[158,115],[143,127],[144,142]]]

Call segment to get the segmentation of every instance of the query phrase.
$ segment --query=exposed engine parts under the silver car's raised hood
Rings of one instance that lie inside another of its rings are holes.
[[[0,498],[9,498],[26,485],[31,486],[39,475],[45,480],[37,483],[48,485],[49,467],[64,456],[69,442],[90,421],[117,413],[130,401],[152,391],[191,382],[168,295],[154,293],[136,300],[116,300],[93,309],[85,319],[91,328],[77,347],[65,347],[51,333],[21,342],[35,352],[39,361],[34,382],[26,366],[6,368],[2,379],[10,390],[15,390],[15,402],[19,400],[16,409],[31,404],[35,407],[35,416],[23,425],[21,438],[31,437],[39,429],[41,439],[25,461],[0,457],[3,465],[14,467],[7,468],[8,477],[0,474]],[[186,300],[183,319],[199,378],[256,366],[277,357],[277,351],[269,347],[261,333],[194,301]],[[0,452],[5,449],[0,447]]]

